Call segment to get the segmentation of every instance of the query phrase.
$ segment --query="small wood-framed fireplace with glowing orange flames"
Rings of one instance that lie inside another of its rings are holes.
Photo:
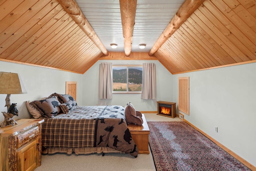
[[[167,117],[176,117],[176,103],[157,101],[157,114]]]

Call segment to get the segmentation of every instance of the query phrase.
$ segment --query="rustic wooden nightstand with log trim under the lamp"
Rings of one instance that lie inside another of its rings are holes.
[[[41,165],[44,119],[16,119],[14,126],[0,128],[0,170],[30,171]]]

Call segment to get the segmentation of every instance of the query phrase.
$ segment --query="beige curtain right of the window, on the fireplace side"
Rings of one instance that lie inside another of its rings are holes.
[[[156,98],[156,66],[154,63],[143,63],[141,99]]]

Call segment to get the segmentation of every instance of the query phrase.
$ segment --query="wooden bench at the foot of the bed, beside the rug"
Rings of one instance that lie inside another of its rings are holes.
[[[149,154],[148,135],[150,133],[150,130],[148,128],[148,123],[146,121],[144,114],[142,114],[142,119],[142,125],[134,125],[130,123],[128,124],[128,128],[130,129],[132,139],[138,146],[139,154]]]

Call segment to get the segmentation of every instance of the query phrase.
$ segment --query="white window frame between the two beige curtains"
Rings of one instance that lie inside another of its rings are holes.
[[[126,77],[126,91],[114,91],[112,87],[112,94],[141,94],[142,91],[129,91],[129,78],[128,78],[128,68],[142,68],[142,65],[112,65],[112,86],[113,86],[113,68],[126,68],[127,69],[127,77]],[[143,76],[143,68],[142,68],[142,76]],[[142,84],[141,84],[142,85]]]

